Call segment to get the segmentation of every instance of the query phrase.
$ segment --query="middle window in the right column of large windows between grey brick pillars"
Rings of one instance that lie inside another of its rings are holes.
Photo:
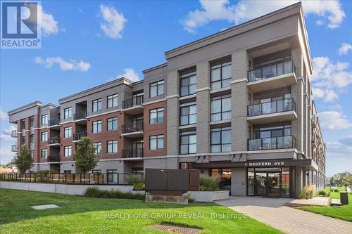
[[[210,122],[231,119],[231,96],[211,98]]]

